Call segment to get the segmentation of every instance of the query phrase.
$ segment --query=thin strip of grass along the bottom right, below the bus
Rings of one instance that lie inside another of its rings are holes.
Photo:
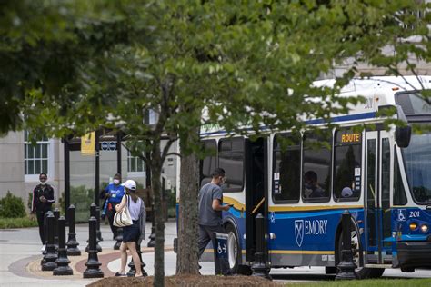
[[[298,286],[313,286],[316,287],[316,283],[294,283]],[[286,284],[291,285],[291,283]],[[428,279],[369,279],[369,280],[354,280],[354,281],[335,281],[335,282],[318,282],[319,287],[406,287],[406,286],[415,286],[415,287],[429,287],[431,286],[431,278]]]

